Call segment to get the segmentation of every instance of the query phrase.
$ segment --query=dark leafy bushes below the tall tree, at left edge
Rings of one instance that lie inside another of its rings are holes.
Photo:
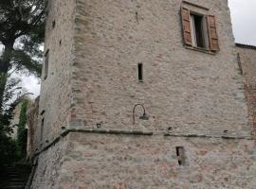
[[[25,94],[17,94],[19,89],[19,79],[10,78],[6,84],[8,76],[0,73],[0,87],[5,85],[5,93],[2,98],[2,106],[0,107],[0,166],[3,164],[14,163],[18,159],[25,157],[27,132],[25,129],[27,100]],[[20,121],[18,124],[18,142],[16,143],[9,135],[13,132],[10,122],[13,118],[14,110],[23,102]]]

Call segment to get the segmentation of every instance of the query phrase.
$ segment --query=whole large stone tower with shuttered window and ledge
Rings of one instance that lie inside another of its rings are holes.
[[[256,188],[227,0],[50,0],[34,189]]]

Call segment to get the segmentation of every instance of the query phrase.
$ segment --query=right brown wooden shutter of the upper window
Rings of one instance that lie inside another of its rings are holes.
[[[208,15],[208,31],[209,31],[209,41],[210,41],[210,50],[218,51],[219,48],[219,39],[217,34],[217,27],[214,15]]]

